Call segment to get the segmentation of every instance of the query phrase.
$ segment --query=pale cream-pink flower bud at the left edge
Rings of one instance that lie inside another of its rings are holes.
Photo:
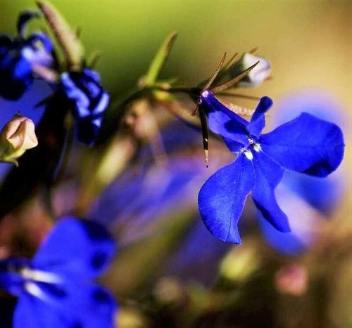
[[[37,145],[38,140],[32,120],[15,114],[0,132],[0,161],[18,166],[15,159]]]

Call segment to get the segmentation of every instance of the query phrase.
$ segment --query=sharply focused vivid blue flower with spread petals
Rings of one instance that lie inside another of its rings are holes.
[[[341,129],[303,113],[262,134],[265,112],[272,106],[270,98],[260,99],[250,122],[222,105],[210,91],[203,91],[200,100],[210,130],[237,154],[234,162],[210,176],[199,192],[199,211],[208,230],[220,240],[240,244],[237,223],[252,192],[265,220],[277,230],[289,232],[287,216],[274,193],[284,169],[320,177],[337,169],[344,157]]]

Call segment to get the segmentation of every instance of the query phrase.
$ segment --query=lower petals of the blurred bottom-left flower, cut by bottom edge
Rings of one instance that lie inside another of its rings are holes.
[[[72,284],[70,295],[58,303],[31,294],[20,297],[15,309],[15,328],[113,328],[116,302],[99,286]]]

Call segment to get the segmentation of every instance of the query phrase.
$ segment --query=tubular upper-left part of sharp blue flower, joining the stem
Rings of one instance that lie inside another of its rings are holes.
[[[248,122],[222,105],[209,91],[201,94],[201,110],[206,112],[209,129],[222,136],[232,152],[249,145],[246,133]]]

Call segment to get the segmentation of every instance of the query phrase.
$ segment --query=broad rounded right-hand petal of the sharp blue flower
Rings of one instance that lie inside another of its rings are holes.
[[[307,113],[264,134],[260,144],[285,169],[311,176],[327,176],[344,157],[339,126]]]

